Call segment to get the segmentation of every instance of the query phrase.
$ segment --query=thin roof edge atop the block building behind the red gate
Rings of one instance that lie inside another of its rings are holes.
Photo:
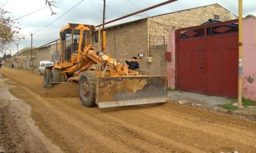
[[[175,11],[175,12],[170,12],[170,13],[164,13],[164,14],[160,14],[160,15],[145,17],[145,18],[141,18],[141,19],[138,19],[138,20],[130,21],[130,22],[124,22],[124,23],[120,23],[120,24],[116,24],[116,25],[110,25],[109,27],[105,27],[105,29],[112,29],[112,28],[116,28],[116,27],[119,27],[119,26],[122,26],[122,25],[127,25],[127,24],[132,24],[132,23],[140,22],[140,21],[146,20],[146,19],[151,18],[151,17],[157,17],[157,16],[161,16],[161,15],[166,15],[166,14],[172,14],[172,13],[177,13],[177,12],[183,12],[183,11],[188,11],[188,10],[193,10],[193,9],[198,9],[198,8],[213,6],[213,5],[219,5],[219,4],[218,4],[218,3],[215,3],[215,4],[205,5],[205,6],[196,7],[196,8],[191,8],[191,9],[180,10],[180,11]],[[219,5],[219,6],[222,7],[221,5]],[[222,7],[222,8],[225,9],[224,7]],[[227,10],[227,9],[225,9],[225,10]],[[229,10],[227,10],[227,11],[230,12]],[[231,12],[230,12],[230,13],[231,13]]]

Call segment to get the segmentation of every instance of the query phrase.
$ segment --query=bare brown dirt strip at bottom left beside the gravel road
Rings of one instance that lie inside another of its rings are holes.
[[[35,126],[31,107],[14,97],[0,73],[0,152],[62,152]]]

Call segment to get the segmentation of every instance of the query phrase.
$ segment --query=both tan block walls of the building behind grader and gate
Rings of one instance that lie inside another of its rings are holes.
[[[119,24],[106,29],[106,49],[114,58],[127,59],[139,52],[151,56],[148,54],[151,46],[168,44],[170,29],[200,25],[214,15],[219,15],[223,21],[237,18],[215,4]],[[140,62],[140,69],[149,72],[151,64]]]

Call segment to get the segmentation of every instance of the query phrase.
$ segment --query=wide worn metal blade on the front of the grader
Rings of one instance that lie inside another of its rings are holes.
[[[167,76],[98,77],[96,105],[99,108],[164,103]]]

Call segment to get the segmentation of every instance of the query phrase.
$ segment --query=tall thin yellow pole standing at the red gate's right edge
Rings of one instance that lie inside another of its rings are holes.
[[[242,108],[243,2],[238,1],[238,108]]]

